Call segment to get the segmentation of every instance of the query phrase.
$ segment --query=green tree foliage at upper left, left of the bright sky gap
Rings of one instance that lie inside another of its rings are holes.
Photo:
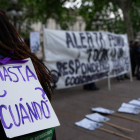
[[[18,21],[20,21],[20,25],[23,23],[29,25],[35,22],[45,24],[49,18],[53,18],[62,29],[67,29],[68,22],[73,22],[75,18],[71,15],[73,9],[64,7],[66,1],[68,0],[18,0],[16,7],[23,11],[23,16],[19,17]],[[10,0],[0,0],[2,10],[7,11],[9,7],[12,7]],[[29,29],[28,25],[24,26]]]

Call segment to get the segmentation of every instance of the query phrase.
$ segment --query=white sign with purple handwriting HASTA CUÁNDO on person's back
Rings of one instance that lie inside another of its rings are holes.
[[[9,138],[59,125],[31,59],[0,66],[0,118]]]

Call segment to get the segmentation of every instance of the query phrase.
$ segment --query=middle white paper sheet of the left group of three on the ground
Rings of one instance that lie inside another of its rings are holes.
[[[95,122],[106,122],[109,121],[110,119],[107,117],[104,117],[103,115],[100,115],[99,113],[93,113],[86,115],[86,118],[95,121]]]

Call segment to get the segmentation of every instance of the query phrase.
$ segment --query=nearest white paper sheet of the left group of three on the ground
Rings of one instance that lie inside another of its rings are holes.
[[[83,127],[85,129],[88,129],[88,130],[95,130],[95,129],[102,126],[101,123],[91,121],[87,118],[84,118],[83,120],[81,120],[79,122],[76,122],[75,125]]]

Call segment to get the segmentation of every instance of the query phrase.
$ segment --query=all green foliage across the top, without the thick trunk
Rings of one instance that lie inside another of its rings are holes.
[[[69,24],[73,24],[76,16],[80,14],[86,22],[85,30],[97,30],[96,26],[92,23],[96,17],[96,12],[100,13],[103,21],[102,30],[108,30],[115,33],[125,33],[125,25],[120,15],[119,7],[112,3],[113,0],[81,0],[82,5],[79,9],[66,8],[64,3],[68,0],[18,0],[17,8],[22,9],[23,16],[17,19],[20,24],[26,23],[24,29],[21,30],[23,36],[27,36],[31,30],[30,24],[35,22],[46,23],[47,19],[53,18],[60,24],[63,30],[68,29]],[[75,0],[73,0],[75,1]],[[6,11],[12,7],[10,0],[0,0],[0,9]],[[130,17],[134,33],[140,30],[140,1],[131,0]],[[111,18],[111,15],[114,15]],[[11,19],[12,21],[12,19]],[[30,23],[30,24],[28,24]]]

